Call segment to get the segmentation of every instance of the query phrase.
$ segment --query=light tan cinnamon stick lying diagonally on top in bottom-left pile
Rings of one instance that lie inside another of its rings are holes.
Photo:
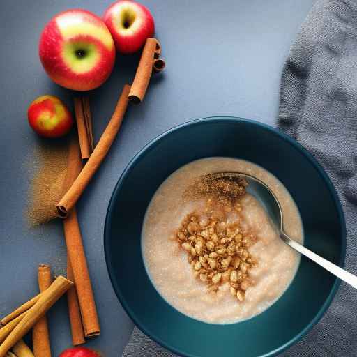
[[[51,286],[43,291],[35,305],[25,313],[21,321],[0,345],[0,357],[4,357],[6,352],[29,332],[40,317],[42,317],[72,285],[73,282],[70,282],[70,280],[67,280],[63,276],[56,278]]]

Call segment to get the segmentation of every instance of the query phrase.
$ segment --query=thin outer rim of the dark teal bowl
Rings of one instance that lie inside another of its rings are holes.
[[[107,266],[109,279],[110,279],[110,282],[112,283],[112,287],[114,289],[116,297],[119,299],[119,301],[121,303],[121,306],[126,311],[128,316],[130,317],[130,319],[132,319],[132,321],[134,322],[135,326],[137,326],[139,328],[139,330],[142,331],[145,335],[147,335],[152,340],[154,340],[155,342],[160,344],[160,346],[165,347],[165,349],[173,352],[174,354],[177,354],[178,356],[183,356],[183,357],[200,357],[200,356],[187,354],[187,353],[185,353],[183,351],[179,351],[179,349],[176,349],[175,347],[170,346],[165,341],[161,340],[160,337],[155,336],[155,334],[151,333],[151,331],[148,331],[146,329],[146,327],[141,324],[139,319],[137,319],[137,317],[135,316],[135,313],[131,310],[130,306],[126,303],[126,301],[124,300],[124,298],[123,298],[123,296],[121,294],[121,291],[116,288],[114,273],[113,273],[112,267],[109,266],[109,262],[108,262],[109,261],[108,257],[109,257],[109,254],[110,254],[109,253],[110,249],[109,249],[108,226],[109,226],[109,220],[111,220],[111,218],[112,218],[113,202],[114,202],[114,197],[116,197],[116,192],[118,192],[119,188],[121,187],[121,185],[123,183],[124,178],[126,177],[128,172],[130,172],[132,167],[135,166],[137,160],[139,160],[142,157],[142,155],[144,155],[146,153],[146,151],[151,146],[157,145],[163,137],[166,137],[167,135],[171,134],[172,132],[174,132],[176,130],[181,130],[182,128],[185,128],[187,126],[204,125],[204,124],[212,123],[212,122],[216,122],[216,123],[243,122],[243,123],[248,123],[248,124],[253,125],[253,126],[260,126],[261,128],[264,128],[265,130],[267,130],[271,134],[273,134],[275,136],[278,136],[278,137],[280,137],[280,139],[283,139],[284,141],[288,142],[288,144],[293,146],[294,149],[296,149],[297,151],[299,151],[300,153],[302,153],[305,156],[305,158],[312,164],[312,166],[315,169],[317,169],[317,172],[321,176],[321,179],[323,179],[323,181],[326,183],[326,185],[328,187],[329,192],[331,192],[331,195],[332,195],[332,198],[333,198],[333,202],[335,203],[335,206],[337,208],[337,213],[338,213],[339,220],[340,220],[340,223],[341,223],[341,232],[340,232],[340,234],[341,234],[341,238],[342,239],[341,239],[341,254],[340,254],[339,266],[341,266],[341,267],[344,266],[344,261],[345,261],[345,258],[346,258],[346,245],[347,245],[346,221],[344,219],[344,213],[343,213],[343,210],[342,210],[342,204],[341,204],[340,199],[339,199],[339,197],[337,195],[337,191],[335,189],[335,186],[333,185],[331,179],[328,177],[328,175],[326,174],[324,169],[321,167],[321,165],[319,164],[317,159],[314,158],[314,156],[309,151],[307,151],[307,149],[305,149],[300,143],[296,142],[295,139],[293,139],[289,135],[285,134],[284,132],[278,130],[278,128],[274,128],[273,126],[270,126],[270,125],[268,125],[266,123],[261,123],[261,122],[256,121],[256,120],[245,119],[245,118],[240,118],[240,117],[236,117],[236,116],[207,116],[207,117],[200,118],[200,119],[192,119],[192,120],[189,120],[189,121],[185,121],[184,123],[181,123],[181,124],[176,125],[176,126],[174,126],[172,128],[169,128],[168,130],[165,130],[160,135],[158,135],[158,136],[154,137],[153,139],[151,139],[144,147],[142,147],[142,149],[140,149],[134,155],[134,157],[130,160],[130,162],[128,162],[128,165],[126,165],[126,168],[123,170],[123,172],[121,173],[121,176],[119,177],[118,181],[116,182],[116,185],[115,185],[114,190],[112,192],[112,196],[110,197],[110,200],[109,200],[109,204],[108,204],[108,208],[107,208],[107,215],[105,217],[104,252],[105,252],[105,264]],[[256,356],[256,357],[273,357],[273,356],[276,356],[277,354],[281,354],[283,351],[285,351],[286,349],[291,347],[293,344],[295,344],[296,342],[301,340],[301,338],[303,338],[303,336],[305,336],[312,329],[312,327],[315,324],[317,324],[317,322],[319,322],[319,320],[324,315],[324,313],[326,312],[328,307],[331,305],[331,303],[333,301],[333,298],[335,297],[335,294],[337,293],[337,289],[338,289],[338,287],[340,287],[340,283],[341,283],[341,280],[338,279],[338,278],[335,278],[335,282],[334,282],[333,287],[332,287],[332,289],[330,291],[330,294],[328,294],[328,298],[326,298],[326,301],[321,306],[319,312],[316,314],[314,319],[312,319],[312,321],[310,321],[310,323],[305,328],[303,328],[303,330],[300,333],[298,333],[298,335],[294,336],[293,338],[291,338],[291,340],[289,340],[287,343],[283,344],[282,346],[278,347],[277,349],[275,349],[273,351],[269,351],[266,354],[261,354],[260,356]]]

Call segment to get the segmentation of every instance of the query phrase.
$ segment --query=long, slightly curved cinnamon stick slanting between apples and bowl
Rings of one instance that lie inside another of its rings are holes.
[[[152,63],[151,63],[152,66]],[[75,179],[73,185],[66,192],[66,194],[62,197],[61,201],[57,204],[56,208],[59,213],[59,216],[62,218],[66,218],[68,212],[75,206],[77,200],[82,195],[82,192],[86,188],[86,186],[91,181],[91,178],[96,173],[98,167],[104,160],[107,152],[110,149],[110,146],[114,142],[117,132],[121,127],[121,122],[123,121],[123,116],[126,112],[126,108],[128,107],[128,94],[130,92],[130,86],[126,84],[123,88],[119,101],[114,110],[114,114],[110,119],[107,128],[105,128],[102,136],[96,148],[93,150],[93,153],[89,157],[86,165],[84,165],[82,171],[79,173],[77,179]],[[75,267],[72,267],[75,272]],[[80,300],[79,300],[80,303]]]

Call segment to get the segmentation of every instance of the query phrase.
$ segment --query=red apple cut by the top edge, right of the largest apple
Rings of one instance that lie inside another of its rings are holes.
[[[155,32],[150,11],[135,1],[116,1],[107,8],[103,18],[112,33],[116,50],[124,54],[140,50],[146,38]]]

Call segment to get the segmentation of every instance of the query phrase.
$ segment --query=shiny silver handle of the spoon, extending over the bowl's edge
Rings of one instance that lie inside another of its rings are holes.
[[[312,261],[319,264],[319,266],[322,266],[323,268],[325,268],[326,271],[329,271],[333,275],[337,276],[337,278],[340,278],[344,282],[347,282],[347,284],[350,284],[351,287],[354,287],[355,289],[357,289],[357,276],[356,275],[351,274],[348,271],[345,271],[344,269],[340,268],[340,266],[337,266],[337,265],[331,263],[331,261],[328,261],[328,260],[324,259],[323,257],[320,257],[319,255],[317,255],[316,253],[307,249],[300,243],[292,240],[283,231],[280,232],[280,237],[282,238],[282,240],[285,243],[290,245],[291,248],[293,248],[294,250],[297,250],[302,255],[305,255],[305,257],[310,258]]]

